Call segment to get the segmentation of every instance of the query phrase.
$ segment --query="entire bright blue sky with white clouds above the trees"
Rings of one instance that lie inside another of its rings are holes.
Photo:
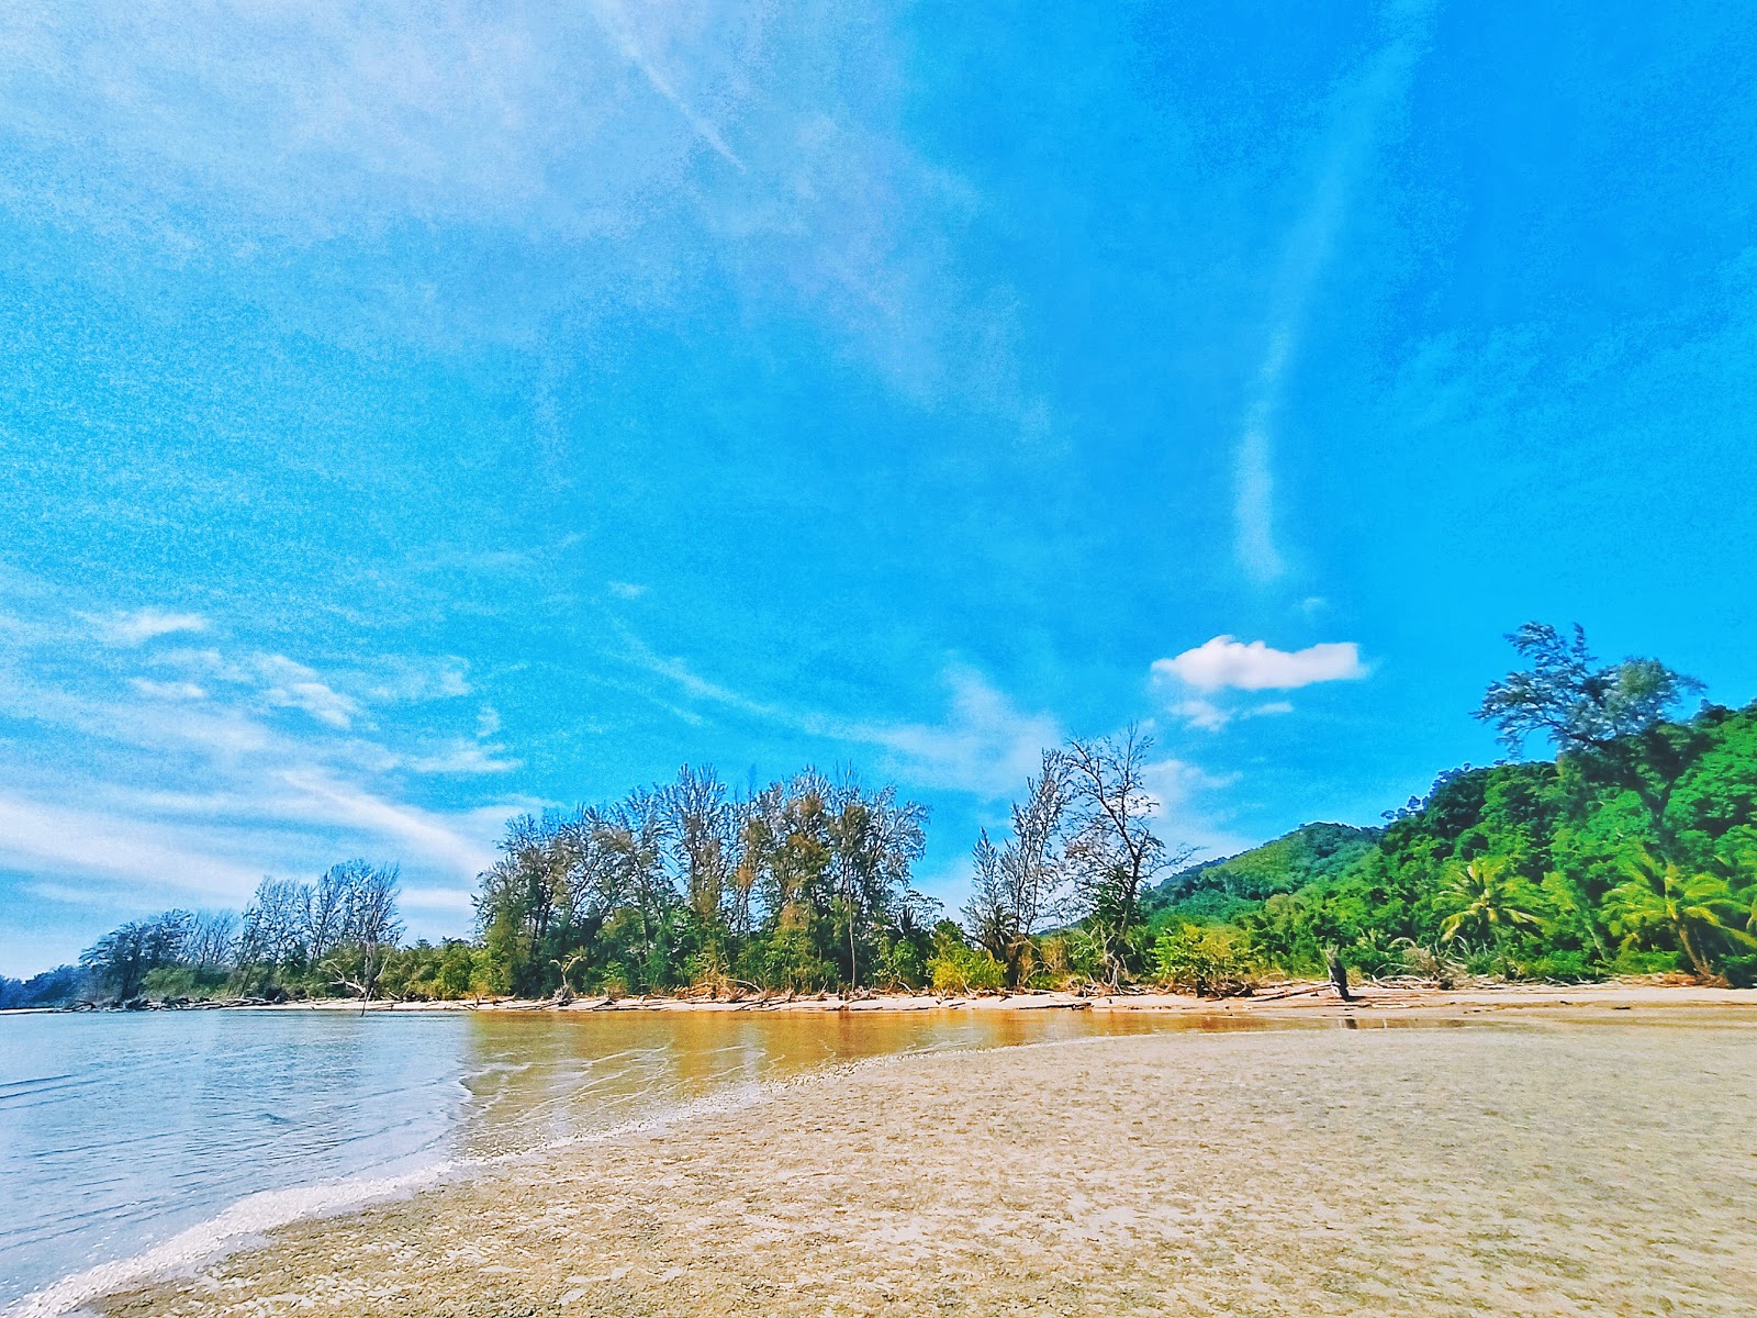
[[[0,11],[0,974],[712,763],[1205,856],[1757,698],[1757,11]]]

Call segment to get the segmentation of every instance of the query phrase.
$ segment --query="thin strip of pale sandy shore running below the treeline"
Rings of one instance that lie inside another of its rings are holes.
[[[1079,995],[1063,991],[1021,991],[994,995],[931,995],[884,993],[845,998],[836,993],[808,996],[777,995],[734,1000],[687,996],[622,996],[555,1000],[457,1000],[457,1002],[358,1002],[346,998],[316,998],[307,1002],[213,1002],[172,1007],[12,1007],[0,1016],[28,1014],[135,1014],[135,1012],[341,1012],[341,1014],[423,1014],[423,1012],[488,1012],[488,1014],[548,1014],[573,1016],[594,1012],[836,1012],[836,1014],[900,1014],[900,1012],[1144,1012],[1168,1016],[1316,1016],[1342,1019],[1374,1012],[1413,1012],[1416,1016],[1478,1014],[1483,1010],[1520,1010],[1541,1007],[1604,1007],[1634,1010],[1652,1007],[1757,1007],[1757,989],[1710,988],[1699,984],[1652,984],[1608,981],[1592,984],[1493,984],[1442,989],[1432,986],[1367,982],[1351,989],[1355,1000],[1341,1002],[1328,981],[1288,981],[1265,984],[1256,993],[1230,998],[1198,998],[1167,991],[1128,991]]]

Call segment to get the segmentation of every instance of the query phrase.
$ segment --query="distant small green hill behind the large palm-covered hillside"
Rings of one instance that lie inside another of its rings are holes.
[[[1330,879],[1358,861],[1385,829],[1353,824],[1304,824],[1262,847],[1202,861],[1170,875],[1142,896],[1142,914],[1198,924],[1230,923],[1276,893]]]

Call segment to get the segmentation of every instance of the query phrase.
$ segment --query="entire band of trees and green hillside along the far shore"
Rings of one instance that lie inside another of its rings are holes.
[[[1525,668],[1478,717],[1511,752],[1448,771],[1385,828],[1314,824],[1189,866],[1168,847],[1137,729],[1045,750],[972,852],[963,921],[914,886],[926,807],[852,771],[733,791],[712,768],[520,815],[478,882],[469,940],[401,945],[395,866],[265,879],[242,916],[125,924],[77,968],[0,981],[72,998],[485,996],[1167,984],[1247,991],[1351,968],[1757,981],[1757,705],[1681,706],[1653,659],[1601,664],[1527,624]],[[1168,877],[1167,877],[1168,875]],[[1163,880],[1163,882],[1161,882]]]

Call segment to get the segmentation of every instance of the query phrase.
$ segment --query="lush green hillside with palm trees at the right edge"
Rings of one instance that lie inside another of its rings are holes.
[[[1367,974],[1757,979],[1757,705],[1442,773],[1300,882],[1288,854],[1309,831],[1175,875],[1154,923],[1230,926],[1251,963],[1290,972],[1335,947]]]

